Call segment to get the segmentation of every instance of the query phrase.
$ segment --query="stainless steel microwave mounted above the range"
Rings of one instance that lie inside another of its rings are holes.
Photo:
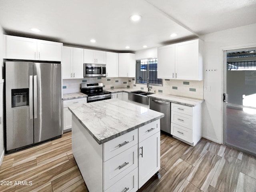
[[[84,63],[84,77],[106,77],[106,64]]]

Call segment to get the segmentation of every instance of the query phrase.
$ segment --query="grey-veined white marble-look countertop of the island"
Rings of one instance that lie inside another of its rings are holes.
[[[164,117],[163,113],[118,99],[84,103],[68,109],[98,144]]]

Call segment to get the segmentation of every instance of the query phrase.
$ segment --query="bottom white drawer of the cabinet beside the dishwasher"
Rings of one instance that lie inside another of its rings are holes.
[[[192,143],[192,130],[180,125],[171,123],[171,134],[187,142]]]

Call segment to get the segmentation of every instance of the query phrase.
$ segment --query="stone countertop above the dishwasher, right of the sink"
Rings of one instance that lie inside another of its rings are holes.
[[[182,96],[162,94],[162,93],[151,94],[151,95],[148,95],[148,97],[169,101],[172,103],[182,104],[190,107],[194,107],[204,102],[204,99],[196,99],[196,98],[182,97]]]

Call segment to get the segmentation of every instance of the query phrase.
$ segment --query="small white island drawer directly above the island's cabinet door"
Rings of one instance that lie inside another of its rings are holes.
[[[160,131],[160,119],[139,128],[139,142]]]

